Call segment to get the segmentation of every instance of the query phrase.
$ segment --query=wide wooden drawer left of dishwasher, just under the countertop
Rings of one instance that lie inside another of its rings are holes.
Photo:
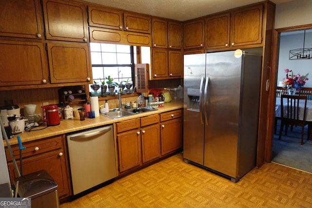
[[[26,149],[22,150],[22,157],[33,156],[37,154],[41,154],[48,151],[53,151],[62,148],[62,136],[57,136],[48,139],[36,140],[32,142],[26,142],[22,144]],[[20,150],[19,145],[13,145],[12,151],[15,159],[20,158]],[[5,148],[5,154],[7,161],[12,161],[10,152],[7,148]]]

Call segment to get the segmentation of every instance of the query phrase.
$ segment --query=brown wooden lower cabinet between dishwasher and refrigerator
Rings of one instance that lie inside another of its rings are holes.
[[[182,110],[117,123],[119,173],[137,170],[182,148]],[[162,121],[160,123],[160,121]]]

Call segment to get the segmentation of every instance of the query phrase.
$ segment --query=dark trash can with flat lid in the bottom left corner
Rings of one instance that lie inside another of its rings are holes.
[[[31,197],[32,208],[59,208],[58,184],[45,170],[14,179],[19,181],[19,196]]]

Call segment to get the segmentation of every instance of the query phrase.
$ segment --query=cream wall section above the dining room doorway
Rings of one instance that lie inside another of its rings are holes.
[[[312,23],[312,0],[293,0],[276,5],[274,28]]]

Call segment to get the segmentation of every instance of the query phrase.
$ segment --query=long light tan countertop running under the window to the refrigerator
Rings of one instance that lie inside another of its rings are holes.
[[[10,145],[18,144],[17,136],[20,135],[20,139],[23,142],[33,141],[36,139],[47,138],[50,136],[56,136],[68,132],[76,132],[79,130],[89,129],[93,127],[98,127],[107,124],[113,124],[119,121],[129,120],[133,118],[138,118],[142,116],[152,115],[156,113],[163,113],[167,111],[177,110],[183,108],[183,101],[171,101],[170,103],[165,103],[164,107],[157,108],[157,111],[138,113],[127,117],[112,119],[103,115],[95,118],[85,118],[84,121],[80,121],[79,117],[74,117],[74,119],[61,120],[60,124],[57,126],[49,126],[45,129],[39,131],[30,131],[14,134],[14,137],[9,139]],[[37,127],[35,129],[40,129],[43,127]],[[4,146],[7,146],[5,140],[3,140]]]

